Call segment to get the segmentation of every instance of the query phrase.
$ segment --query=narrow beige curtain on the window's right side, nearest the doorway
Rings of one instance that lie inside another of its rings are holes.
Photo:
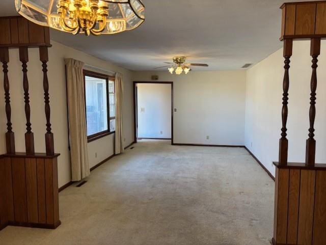
[[[122,74],[116,73],[116,147],[115,153],[124,152],[124,139],[122,130],[122,99],[123,99],[123,81]]]

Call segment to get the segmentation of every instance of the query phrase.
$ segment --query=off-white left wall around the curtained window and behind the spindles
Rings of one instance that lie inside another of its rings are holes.
[[[86,64],[105,70],[120,72],[124,80],[123,101],[123,129],[125,145],[133,142],[133,88],[131,72],[118,67],[110,62],[94,58],[81,51],[52,41],[49,48],[48,79],[51,106],[52,132],[55,135],[56,152],[61,153],[58,158],[59,186],[68,183],[71,179],[70,156],[68,150],[68,127],[67,127],[67,100],[66,100],[66,77],[64,58],[74,58],[84,61]],[[15,132],[16,151],[25,151],[24,132],[25,114],[22,90],[22,72],[19,61],[18,49],[10,49],[9,80],[11,86],[12,122]],[[29,50],[28,77],[30,81],[31,97],[31,122],[35,138],[36,152],[45,152],[45,114],[43,96],[43,73],[39,61],[37,48]],[[4,94],[3,86],[0,86],[0,94]],[[4,98],[0,100],[0,154],[5,153],[6,116]],[[114,152],[114,134],[108,135],[88,144],[90,165],[93,167]],[[106,147],[100,147],[106,146]],[[97,158],[95,153],[97,152]]]

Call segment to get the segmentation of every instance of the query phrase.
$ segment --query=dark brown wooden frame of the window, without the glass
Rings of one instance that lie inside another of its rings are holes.
[[[106,85],[106,110],[107,110],[107,114],[106,114],[106,120],[107,120],[107,130],[101,131],[101,132],[97,132],[91,135],[87,135],[87,142],[92,142],[92,141],[96,141],[98,139],[101,139],[107,135],[113,134],[116,132],[116,130],[114,131],[110,131],[110,120],[115,119],[116,117],[110,117],[110,98],[109,98],[109,92],[108,92],[108,81],[114,81],[114,89],[116,90],[116,81],[115,81],[115,77],[114,76],[110,76],[110,75],[106,75],[106,74],[102,74],[102,73],[97,73],[94,71],[90,71],[90,70],[85,70],[83,69],[83,75],[84,75],[84,100],[85,100],[85,120],[86,120],[86,128],[87,128],[87,111],[86,111],[86,76],[90,76],[90,77],[95,77],[95,78],[100,78],[100,79],[105,79],[105,85]]]

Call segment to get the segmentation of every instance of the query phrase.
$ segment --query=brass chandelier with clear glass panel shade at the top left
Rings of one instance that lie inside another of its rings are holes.
[[[87,36],[130,31],[145,20],[141,0],[15,0],[15,5],[36,24]]]

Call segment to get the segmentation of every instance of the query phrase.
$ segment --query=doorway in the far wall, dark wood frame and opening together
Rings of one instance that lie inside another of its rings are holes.
[[[173,144],[173,82],[134,81],[134,142],[171,140]]]

